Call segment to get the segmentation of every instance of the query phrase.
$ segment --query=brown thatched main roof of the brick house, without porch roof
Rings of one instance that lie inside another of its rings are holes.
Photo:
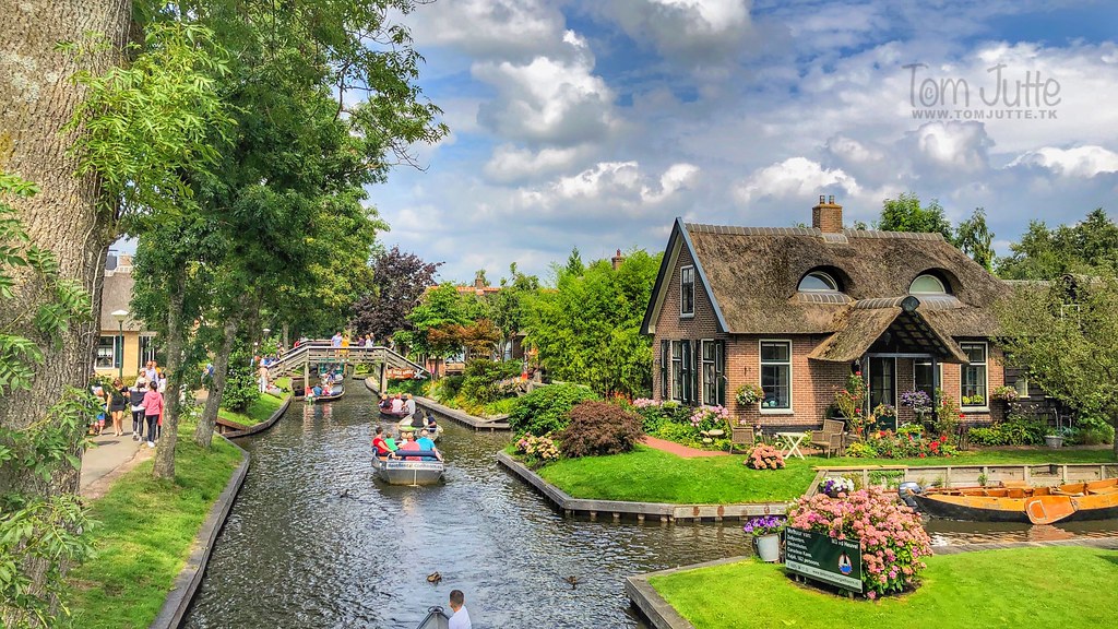
[[[939,234],[804,227],[729,227],[676,222],[692,247],[731,334],[827,334],[850,325],[849,302],[798,298],[799,280],[823,270],[853,301],[907,295],[917,275],[934,272],[954,299],[922,300],[923,318],[953,337],[996,332],[989,307],[1010,288]],[[841,301],[841,300],[840,300]],[[863,323],[859,323],[863,325]],[[869,325],[869,323],[864,323]]]

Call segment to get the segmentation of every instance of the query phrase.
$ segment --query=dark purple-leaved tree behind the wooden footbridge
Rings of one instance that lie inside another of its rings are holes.
[[[435,283],[435,272],[442,262],[424,262],[398,246],[372,260],[372,289],[354,304],[353,329],[360,335],[387,339],[410,326],[408,312]]]

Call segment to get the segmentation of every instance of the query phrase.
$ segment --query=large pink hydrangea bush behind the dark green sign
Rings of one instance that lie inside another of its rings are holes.
[[[800,498],[788,511],[788,526],[837,539],[860,538],[862,584],[870,599],[916,589],[917,573],[927,567],[920,558],[931,555],[920,516],[877,487],[835,498]]]

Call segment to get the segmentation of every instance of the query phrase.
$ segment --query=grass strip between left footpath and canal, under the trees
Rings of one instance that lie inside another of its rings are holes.
[[[155,480],[152,461],[121,477],[91,506],[97,556],[70,573],[74,627],[148,627],[186,565],[206,516],[240,464],[240,450],[214,439],[209,452],[184,426],[174,482]]]

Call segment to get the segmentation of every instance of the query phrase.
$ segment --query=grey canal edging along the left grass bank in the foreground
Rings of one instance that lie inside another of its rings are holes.
[[[193,600],[195,593],[198,592],[198,586],[201,585],[202,576],[206,574],[206,564],[209,563],[210,553],[212,553],[214,545],[217,543],[217,536],[221,532],[221,527],[225,526],[225,520],[229,517],[229,511],[237,499],[237,494],[240,492],[240,487],[248,475],[250,460],[248,452],[233,441],[229,441],[225,435],[218,434],[216,436],[225,439],[240,451],[240,466],[234,472],[229,482],[226,484],[225,489],[221,490],[217,501],[210,507],[202,527],[195,537],[190,556],[187,557],[187,564],[179,572],[179,575],[174,578],[171,591],[168,592],[167,599],[163,601],[163,607],[160,608],[155,620],[151,622],[149,629],[178,629],[182,623],[182,619],[190,608],[190,602]]]

